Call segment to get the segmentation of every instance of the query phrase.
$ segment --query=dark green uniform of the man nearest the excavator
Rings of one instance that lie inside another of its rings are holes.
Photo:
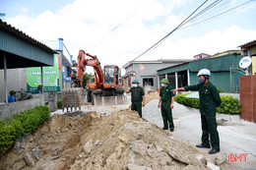
[[[132,110],[136,110],[142,118],[142,101],[143,95],[145,95],[144,89],[141,86],[131,87],[130,92],[132,93]]]

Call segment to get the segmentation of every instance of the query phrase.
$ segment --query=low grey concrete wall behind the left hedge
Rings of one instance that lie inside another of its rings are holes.
[[[0,105],[0,120],[12,118],[17,112],[29,110],[35,106],[44,105],[43,94],[32,94],[32,99]]]

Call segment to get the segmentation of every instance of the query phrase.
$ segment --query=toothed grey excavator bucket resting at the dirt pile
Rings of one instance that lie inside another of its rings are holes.
[[[62,110],[64,112],[65,108],[67,112],[81,110],[81,106],[84,102],[86,96],[85,89],[82,87],[75,88],[64,88],[62,90]]]

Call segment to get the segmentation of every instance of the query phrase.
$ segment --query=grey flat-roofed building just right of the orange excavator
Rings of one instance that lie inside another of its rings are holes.
[[[156,61],[132,61],[125,64],[123,76],[123,85],[125,91],[129,91],[132,81],[137,79],[141,86],[147,86],[150,89],[157,90],[160,85],[158,81],[157,70],[168,66],[174,66],[180,63],[191,61],[189,59],[156,60]]]

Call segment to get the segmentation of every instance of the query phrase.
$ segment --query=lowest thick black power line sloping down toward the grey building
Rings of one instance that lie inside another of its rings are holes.
[[[208,0],[206,0],[204,3],[202,3],[193,13],[191,13],[185,20],[183,20],[183,22],[181,22],[176,28],[172,29],[169,33],[167,33],[165,36],[163,36],[157,43],[155,43],[154,45],[152,45],[149,49],[147,49],[146,51],[144,51],[142,54],[140,54],[138,57],[136,57],[135,59],[133,59],[132,61],[138,59],[139,57],[143,56],[144,54],[146,54],[147,52],[149,52],[150,50],[156,48],[158,45],[160,45],[160,43],[165,40],[172,32],[174,32],[176,29],[180,28],[193,14],[195,14]],[[131,62],[132,62],[131,61]]]

